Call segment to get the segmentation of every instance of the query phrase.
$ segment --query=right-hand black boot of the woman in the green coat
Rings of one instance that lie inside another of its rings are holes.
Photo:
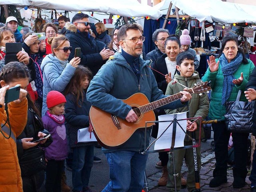
[[[237,169],[233,168],[233,176],[234,176],[234,181],[233,181],[233,187],[234,188],[242,188],[245,186],[245,178],[247,176],[247,169]]]

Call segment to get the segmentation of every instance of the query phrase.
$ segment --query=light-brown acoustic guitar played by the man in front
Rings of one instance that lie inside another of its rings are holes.
[[[196,84],[193,88],[189,88],[190,94],[202,94],[211,90],[208,82]],[[94,132],[97,141],[104,148],[117,148],[126,142],[136,130],[144,130],[145,122],[155,121],[156,117],[154,109],[169,104],[182,98],[181,93],[177,93],[160,100],[149,102],[148,98],[142,93],[136,93],[129,98],[122,100],[130,105],[138,116],[136,122],[127,122],[113,114],[100,110],[92,106],[90,108],[90,126]],[[147,128],[150,128],[154,122],[147,123]]]

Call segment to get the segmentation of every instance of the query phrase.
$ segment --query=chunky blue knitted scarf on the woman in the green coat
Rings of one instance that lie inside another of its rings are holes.
[[[241,53],[237,53],[236,57],[228,62],[224,53],[219,58],[222,73],[224,75],[224,81],[222,86],[222,101],[221,104],[224,105],[226,100],[230,97],[231,91],[234,87],[232,80],[235,79],[233,74],[236,72],[240,64],[242,63],[243,56]]]

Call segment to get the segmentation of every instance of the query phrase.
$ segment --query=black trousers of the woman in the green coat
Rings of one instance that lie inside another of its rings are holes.
[[[212,124],[215,142],[215,170],[226,172],[228,164],[228,141],[230,131],[226,129],[225,123]],[[245,172],[248,157],[247,140],[249,133],[232,133],[234,144],[234,169]]]

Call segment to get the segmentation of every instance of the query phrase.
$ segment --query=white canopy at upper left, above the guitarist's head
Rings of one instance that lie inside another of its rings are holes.
[[[162,16],[160,10],[142,5],[137,0],[0,0],[0,4],[65,11],[103,12],[126,17],[149,16],[152,19]]]

